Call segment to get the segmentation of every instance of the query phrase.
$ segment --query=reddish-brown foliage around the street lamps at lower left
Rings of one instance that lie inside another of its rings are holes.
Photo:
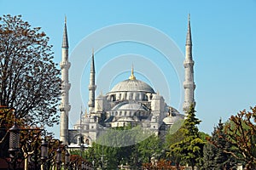
[[[9,128],[16,122],[20,127],[20,152],[19,159],[29,159],[28,167],[31,169],[38,169],[41,163],[41,144],[43,140],[44,130],[37,126],[28,126],[23,119],[15,119],[15,110],[7,107],[0,107],[0,157],[9,158]],[[51,135],[44,137],[48,141],[49,155],[47,165],[50,167],[54,164],[55,151],[58,147],[64,146],[58,139],[53,139]]]

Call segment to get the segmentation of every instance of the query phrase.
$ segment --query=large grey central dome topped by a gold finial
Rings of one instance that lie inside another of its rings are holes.
[[[114,92],[145,92],[154,94],[154,89],[146,82],[137,79],[128,79],[116,84],[110,91],[110,93]]]

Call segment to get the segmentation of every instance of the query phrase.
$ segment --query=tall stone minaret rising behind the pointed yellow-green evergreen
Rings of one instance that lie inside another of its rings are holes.
[[[195,105],[194,91],[194,60],[192,58],[192,39],[190,30],[190,15],[189,15],[189,26],[186,39],[186,57],[183,62],[185,68],[185,81],[183,82],[184,87],[184,103],[183,111],[187,111],[190,105]]]

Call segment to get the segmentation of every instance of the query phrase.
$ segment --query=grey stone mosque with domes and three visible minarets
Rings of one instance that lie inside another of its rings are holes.
[[[90,146],[99,137],[102,129],[108,127],[141,126],[156,134],[165,133],[177,120],[184,115],[175,108],[166,104],[160,93],[156,93],[146,82],[140,81],[131,68],[131,76],[117,83],[107,94],[96,97],[96,70],[94,53],[90,61],[89,84],[89,112],[68,129],[69,89],[68,70],[71,63],[68,61],[67,22],[65,20],[61,59],[61,132],[60,139],[64,144]],[[194,91],[194,60],[192,58],[192,39],[190,19],[185,45],[185,60],[183,62],[185,78],[183,82],[184,101],[183,111],[189,105],[195,105]],[[125,77],[124,77],[125,79]],[[182,111],[182,112],[183,112]]]

